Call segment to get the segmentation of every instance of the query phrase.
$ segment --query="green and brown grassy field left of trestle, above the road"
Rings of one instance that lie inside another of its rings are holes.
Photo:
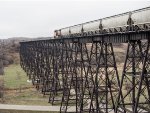
[[[5,75],[0,78],[4,80],[4,97],[1,103],[17,105],[50,105],[48,95],[43,96],[41,92],[28,83],[28,77],[19,64],[13,64],[5,68]],[[20,90],[21,89],[21,90]]]

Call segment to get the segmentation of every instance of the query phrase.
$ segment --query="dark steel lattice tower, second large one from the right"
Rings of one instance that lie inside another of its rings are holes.
[[[98,47],[99,46],[99,47]],[[98,42],[96,48],[96,67],[90,113],[109,113],[115,110],[119,76],[111,43]]]

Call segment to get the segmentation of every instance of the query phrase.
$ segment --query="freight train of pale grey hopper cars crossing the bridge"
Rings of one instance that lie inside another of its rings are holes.
[[[55,38],[150,30],[150,7],[54,31]]]

